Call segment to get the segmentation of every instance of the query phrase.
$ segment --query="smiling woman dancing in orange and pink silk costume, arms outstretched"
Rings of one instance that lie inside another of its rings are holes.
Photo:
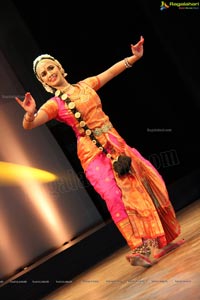
[[[77,155],[86,178],[106,202],[117,228],[127,241],[127,260],[134,266],[152,265],[177,248],[171,243],[180,234],[165,183],[155,169],[113,127],[102,109],[98,90],[143,56],[144,38],[131,44],[131,55],[97,76],[71,84],[61,63],[49,54],[39,55],[33,70],[45,90],[54,94],[38,110],[29,92],[16,101],[26,111],[26,130],[56,119],[71,126],[77,138]],[[112,100],[113,101],[113,100]],[[115,99],[119,105],[121,99]],[[67,137],[66,137],[67,143]]]

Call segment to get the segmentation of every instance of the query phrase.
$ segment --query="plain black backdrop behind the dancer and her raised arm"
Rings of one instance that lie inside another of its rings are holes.
[[[199,169],[199,10],[161,11],[161,2],[141,0],[114,5],[13,3],[39,48],[32,61],[43,53],[53,55],[71,83],[131,55],[130,44],[143,35],[143,58],[99,91],[103,108],[127,143],[151,160],[167,185]],[[37,80],[25,90],[37,99],[35,86],[44,93]],[[44,93],[43,102],[50,96]],[[57,122],[48,126],[82,176],[71,129]],[[88,188],[95,201],[99,196]]]

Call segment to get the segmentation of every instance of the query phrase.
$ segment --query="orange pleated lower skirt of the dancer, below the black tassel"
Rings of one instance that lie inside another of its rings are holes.
[[[148,170],[146,173],[148,178]],[[126,237],[130,236],[132,248],[139,246],[142,239],[158,239],[158,245],[162,248],[180,234],[180,225],[162,179],[157,177],[156,181],[154,178],[154,182],[151,182],[147,178],[144,175],[139,177],[136,173],[116,177],[121,190],[125,191],[122,200],[129,219],[128,222],[120,222],[118,227]]]

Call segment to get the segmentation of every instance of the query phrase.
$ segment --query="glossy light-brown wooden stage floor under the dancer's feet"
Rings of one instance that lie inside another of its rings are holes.
[[[125,246],[42,300],[200,300],[200,200],[177,218],[185,244],[152,267],[129,265]]]

